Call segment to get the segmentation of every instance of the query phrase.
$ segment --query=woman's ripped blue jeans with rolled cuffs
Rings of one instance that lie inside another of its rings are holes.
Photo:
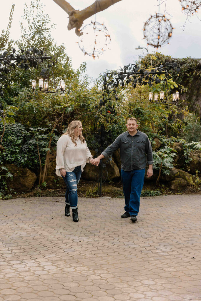
[[[71,206],[71,209],[77,208],[77,184],[81,178],[81,166],[76,166],[72,172],[66,172],[66,176],[62,178],[66,184],[66,204]]]

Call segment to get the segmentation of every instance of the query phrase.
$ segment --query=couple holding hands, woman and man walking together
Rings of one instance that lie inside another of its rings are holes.
[[[130,217],[137,221],[140,208],[140,194],[143,188],[146,163],[148,163],[147,177],[151,177],[153,155],[152,147],[147,135],[137,129],[137,119],[127,120],[127,131],[119,135],[102,154],[93,159],[85,138],[82,135],[82,123],[72,121],[67,131],[57,141],[56,174],[64,179],[66,184],[65,216],[70,216],[72,209],[73,221],[78,222],[77,212],[77,184],[86,163],[98,166],[100,160],[107,158],[118,148],[121,158],[121,181],[125,198],[125,213],[122,218]]]

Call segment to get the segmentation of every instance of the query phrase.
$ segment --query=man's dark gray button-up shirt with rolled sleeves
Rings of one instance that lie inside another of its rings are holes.
[[[152,147],[149,138],[138,129],[134,136],[131,136],[128,131],[119,135],[102,152],[102,155],[107,158],[118,148],[120,148],[121,168],[125,171],[144,169],[146,167],[146,159],[148,164],[153,164]]]

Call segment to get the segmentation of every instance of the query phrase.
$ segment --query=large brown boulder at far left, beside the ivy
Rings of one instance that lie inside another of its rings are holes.
[[[13,175],[13,178],[9,177],[6,179],[8,189],[13,189],[17,192],[24,192],[33,188],[37,178],[34,172],[26,167],[19,167],[15,164],[4,165]]]

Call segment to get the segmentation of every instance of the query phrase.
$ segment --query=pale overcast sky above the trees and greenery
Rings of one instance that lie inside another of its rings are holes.
[[[74,29],[68,31],[68,14],[63,11],[53,0],[40,0],[45,4],[45,10],[49,14],[52,23],[56,28],[52,30],[52,36],[58,44],[64,43],[67,54],[72,58],[74,68],[79,67],[83,61],[87,62],[87,73],[97,77],[105,70],[114,70],[125,64],[133,63],[139,55],[146,54],[146,50],[135,50],[138,45],[146,47],[149,53],[156,49],[147,46],[143,39],[144,22],[150,15],[159,12],[158,0],[122,0],[112,5],[107,10],[96,14],[96,21],[104,23],[111,35],[110,50],[105,51],[99,59],[84,56],[80,51],[78,37]],[[31,0],[6,0],[0,18],[0,29],[5,29],[8,24],[11,5],[15,4],[14,18],[11,29],[11,37],[16,40],[20,36],[19,22],[23,15],[24,3],[30,4]],[[91,5],[94,0],[68,0],[75,9],[83,9]],[[162,1],[161,1],[162,2]],[[178,0],[167,0],[166,14],[172,23],[172,37],[169,45],[159,48],[159,51],[172,57],[201,57],[201,10],[198,17],[193,15],[189,23],[187,21],[185,30],[182,26],[186,16],[181,11],[181,4]],[[164,4],[160,5],[160,12],[164,12]],[[95,16],[84,21],[84,25],[95,21]]]

